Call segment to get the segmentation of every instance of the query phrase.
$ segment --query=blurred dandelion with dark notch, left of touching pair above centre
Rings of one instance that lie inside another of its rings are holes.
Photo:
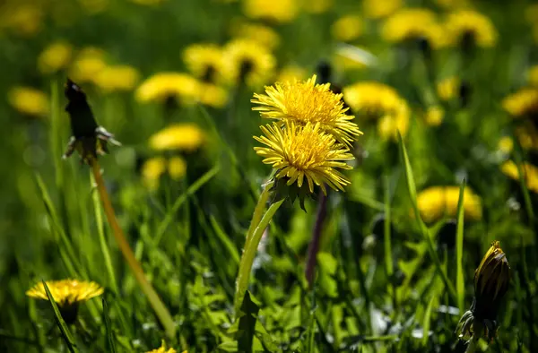
[[[214,44],[193,44],[183,52],[187,69],[204,82],[220,82],[222,49]]]

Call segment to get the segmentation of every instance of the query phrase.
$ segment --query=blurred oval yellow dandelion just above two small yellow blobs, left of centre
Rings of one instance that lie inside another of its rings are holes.
[[[205,141],[205,134],[198,125],[185,123],[165,127],[150,137],[150,147],[153,150],[195,151]]]

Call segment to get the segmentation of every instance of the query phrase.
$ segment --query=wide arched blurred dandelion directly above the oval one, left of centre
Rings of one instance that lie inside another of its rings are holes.
[[[162,101],[169,97],[195,99],[199,92],[199,82],[186,73],[156,73],[136,89],[136,99]]]

